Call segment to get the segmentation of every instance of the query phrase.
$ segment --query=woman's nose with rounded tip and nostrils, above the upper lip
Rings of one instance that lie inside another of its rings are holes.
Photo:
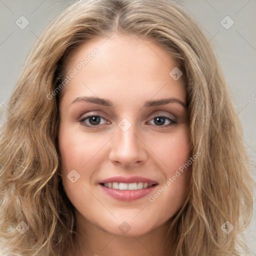
[[[116,135],[111,139],[109,160],[125,168],[137,166],[146,161],[146,145],[141,132],[134,124],[125,130],[116,127]]]

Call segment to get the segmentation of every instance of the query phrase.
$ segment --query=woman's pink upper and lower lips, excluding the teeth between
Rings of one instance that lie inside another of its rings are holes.
[[[147,188],[142,188],[137,190],[119,190],[111,187],[105,187],[102,185],[102,183],[107,183],[107,182],[118,182],[118,183],[143,182],[143,183],[148,183],[153,185]],[[101,189],[103,189],[103,192],[121,201],[133,201],[133,200],[139,199],[145,196],[146,194],[149,194],[150,192],[152,192],[153,189],[158,184],[155,180],[152,180],[146,177],[141,177],[141,176],[130,176],[130,177],[114,176],[114,177],[100,180],[98,183]]]

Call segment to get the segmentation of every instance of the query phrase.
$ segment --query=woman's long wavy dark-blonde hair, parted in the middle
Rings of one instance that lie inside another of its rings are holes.
[[[183,72],[193,154],[201,155],[192,164],[189,196],[168,222],[169,255],[240,255],[254,184],[241,126],[209,39],[171,0],[77,1],[42,32],[2,112],[0,253],[62,256],[72,246],[75,215],[57,141],[61,91],[52,91],[73,50],[113,32],[151,39]],[[233,230],[224,232],[223,224]]]

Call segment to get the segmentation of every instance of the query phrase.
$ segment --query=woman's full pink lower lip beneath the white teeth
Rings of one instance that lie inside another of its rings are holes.
[[[119,190],[119,189],[114,189],[111,187],[105,187],[103,185],[100,185],[104,192],[118,200],[121,201],[133,201],[136,199],[139,199],[146,194],[149,194],[152,192],[152,190],[157,186],[153,185],[147,188],[142,188],[142,189],[137,189],[137,190]]]

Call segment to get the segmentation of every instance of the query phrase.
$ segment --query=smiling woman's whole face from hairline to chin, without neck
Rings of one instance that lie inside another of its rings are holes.
[[[77,222],[142,235],[184,204],[190,137],[185,88],[169,74],[175,67],[154,42],[116,34],[84,43],[68,60],[58,143]]]

